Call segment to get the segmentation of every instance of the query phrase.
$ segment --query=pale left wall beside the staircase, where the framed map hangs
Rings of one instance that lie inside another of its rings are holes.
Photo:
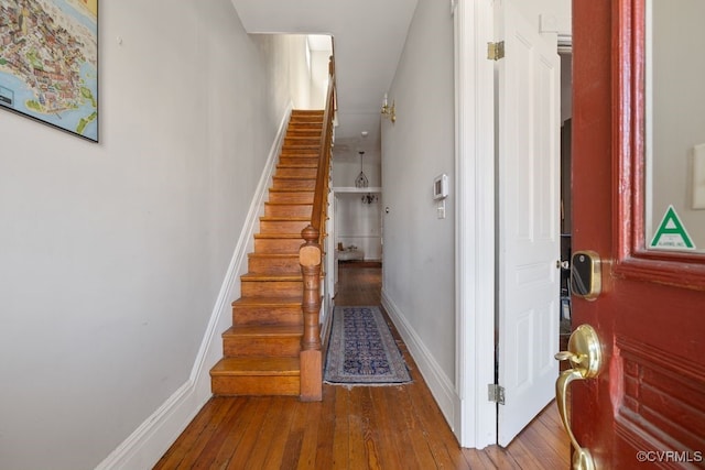
[[[0,468],[94,468],[188,379],[291,99],[229,0],[100,17],[99,144],[0,112]]]

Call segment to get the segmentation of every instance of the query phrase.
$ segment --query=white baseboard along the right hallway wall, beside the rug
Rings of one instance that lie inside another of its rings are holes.
[[[381,304],[404,340],[404,345],[406,345],[409,352],[419,367],[419,371],[423,375],[426,385],[429,385],[431,394],[438,404],[445,420],[455,430],[454,426],[458,422],[457,414],[459,413],[460,400],[455,391],[453,381],[443,372],[441,365],[421,340],[421,337],[406,321],[397,304],[387,295],[384,288],[382,288]]]

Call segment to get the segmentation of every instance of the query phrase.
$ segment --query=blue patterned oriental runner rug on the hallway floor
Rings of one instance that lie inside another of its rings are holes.
[[[411,382],[404,358],[379,307],[335,307],[324,381],[334,385]]]

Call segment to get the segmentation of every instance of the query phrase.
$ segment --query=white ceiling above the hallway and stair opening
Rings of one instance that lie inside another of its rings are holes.
[[[364,150],[379,159],[382,98],[391,86],[417,0],[231,1],[248,33],[333,35],[336,157],[356,157]]]

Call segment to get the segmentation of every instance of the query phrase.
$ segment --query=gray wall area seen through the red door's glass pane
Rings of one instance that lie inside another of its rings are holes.
[[[652,230],[647,244],[673,205],[693,239],[705,250],[705,210],[693,210],[693,146],[705,143],[705,2],[683,0],[679,8],[664,0],[653,1],[653,181],[651,185]],[[677,92],[673,92],[677,90]],[[647,143],[647,146],[649,143]],[[705,183],[705,175],[697,175]]]

